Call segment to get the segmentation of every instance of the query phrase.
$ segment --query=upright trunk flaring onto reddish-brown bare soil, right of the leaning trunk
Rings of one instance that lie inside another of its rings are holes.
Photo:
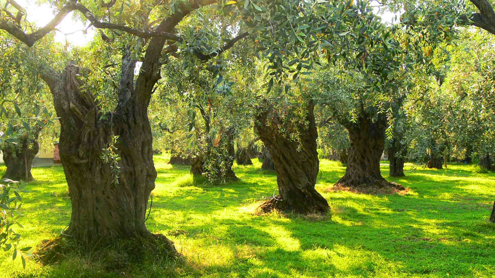
[[[364,115],[358,122],[347,122],[344,126],[349,132],[349,157],[346,174],[336,185],[374,188],[392,186],[403,189],[401,185],[387,182],[380,172],[380,158],[385,147],[386,120],[380,118],[373,122],[370,117]]]

